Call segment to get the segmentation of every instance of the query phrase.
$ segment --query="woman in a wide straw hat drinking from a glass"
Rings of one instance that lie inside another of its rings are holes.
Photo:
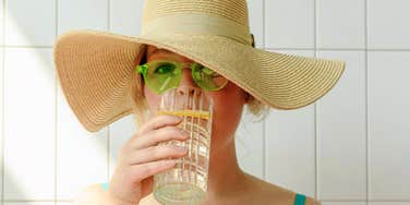
[[[242,171],[233,137],[245,105],[256,116],[266,114],[270,107],[310,105],[336,84],[345,63],[254,48],[246,12],[241,0],[149,0],[140,37],[91,31],[59,37],[55,46],[58,76],[84,128],[98,131],[130,113],[138,126],[121,147],[107,186],[88,186],[74,204],[158,204],[152,194],[153,176],[174,166],[168,157],[186,155],[178,147],[156,146],[189,136],[176,126],[181,119],[147,114],[155,111],[160,95],[134,68],[154,60],[195,62],[228,81],[218,91],[205,91],[183,68],[177,85],[202,89],[215,104],[205,204],[319,204]]]

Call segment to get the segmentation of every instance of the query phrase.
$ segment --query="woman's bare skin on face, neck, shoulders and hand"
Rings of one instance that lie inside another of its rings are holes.
[[[172,59],[180,62],[192,60],[177,53],[148,46],[147,61]],[[198,88],[189,69],[183,69],[180,85]],[[202,91],[205,92],[205,91]],[[244,91],[234,83],[218,92],[207,92],[214,100],[213,133],[209,154],[208,188],[205,204],[280,204],[292,205],[296,192],[270,184],[241,170],[238,165],[234,133],[238,129],[243,106],[246,104]],[[144,95],[149,109],[154,111],[160,96],[144,86]],[[160,141],[186,140],[176,125],[180,121],[174,117],[154,117],[142,125],[122,149],[116,171],[108,188],[108,194],[99,185],[93,185],[79,196],[74,205],[84,204],[159,204],[153,196],[153,176],[170,169],[174,164],[167,162],[167,157],[183,157],[186,152],[173,147],[156,148]],[[91,200],[98,198],[98,200]],[[306,205],[319,204],[306,197]]]

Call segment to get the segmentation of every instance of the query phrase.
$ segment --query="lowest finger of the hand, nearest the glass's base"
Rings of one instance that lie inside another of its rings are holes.
[[[133,181],[142,181],[145,178],[171,169],[176,166],[177,162],[177,159],[165,159],[132,166],[131,173],[133,176]]]

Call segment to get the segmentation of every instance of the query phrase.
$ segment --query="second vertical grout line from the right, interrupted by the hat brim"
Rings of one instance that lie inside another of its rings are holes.
[[[313,47],[314,47],[314,58],[317,57],[317,8],[316,8],[316,4],[317,4],[317,1],[316,0],[313,0]],[[315,169],[315,198],[318,201],[318,193],[317,193],[317,184],[318,184],[318,165],[317,165],[317,157],[318,157],[318,154],[317,154],[317,143],[318,143],[318,140],[317,140],[317,102],[314,104],[314,150],[315,150],[315,157],[314,157],[314,169]]]

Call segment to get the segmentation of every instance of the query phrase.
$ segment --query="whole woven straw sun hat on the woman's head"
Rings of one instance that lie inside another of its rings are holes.
[[[60,86],[85,129],[99,131],[132,113],[130,87],[142,81],[132,76],[146,45],[208,67],[276,109],[314,102],[345,70],[339,60],[254,48],[245,0],[146,0],[140,36],[80,29],[55,43]]]

